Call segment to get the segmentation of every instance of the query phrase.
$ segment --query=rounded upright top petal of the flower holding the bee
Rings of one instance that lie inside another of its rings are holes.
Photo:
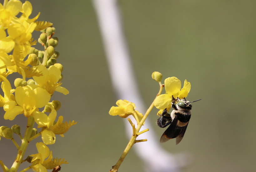
[[[164,80],[165,91],[169,95],[175,95],[181,90],[181,81],[175,76],[166,78]]]

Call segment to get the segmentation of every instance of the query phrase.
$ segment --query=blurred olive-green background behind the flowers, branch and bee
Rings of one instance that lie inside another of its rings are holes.
[[[54,157],[68,160],[68,165],[62,165],[63,172],[108,171],[129,139],[123,119],[108,114],[116,98],[92,2],[30,2],[33,6],[30,18],[40,11],[38,20],[54,23],[55,36],[59,38],[55,48],[60,52],[57,61],[64,66],[62,86],[70,93],[67,96],[54,93],[54,100],[62,103],[58,115],[67,121],[78,121],[64,138],[57,136],[56,143],[49,148]],[[193,104],[182,142],[175,145],[171,140],[162,144],[164,149],[192,155],[192,164],[184,172],[254,171],[256,1],[120,0],[118,3],[145,104],[150,106],[159,88],[151,79],[153,71],[161,72],[163,78],[176,76],[182,85],[187,79],[192,85],[187,100],[202,99]],[[155,130],[160,138],[164,129],[155,125],[156,112],[154,108],[146,122],[154,126],[150,131]],[[22,120],[19,115],[13,121],[1,120],[0,125],[11,127]],[[10,140],[2,139],[0,143],[5,144],[1,146],[0,159],[10,167],[15,156],[8,159],[5,153],[8,150],[12,156],[17,150]],[[26,155],[37,153],[33,144]],[[119,171],[143,171],[134,149]]]

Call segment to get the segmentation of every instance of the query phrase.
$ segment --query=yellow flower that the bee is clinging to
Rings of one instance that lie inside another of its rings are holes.
[[[186,98],[191,88],[190,82],[185,80],[184,86],[181,89],[181,81],[174,76],[166,78],[164,83],[166,94],[161,94],[156,97],[154,105],[157,109],[170,109],[173,98]]]

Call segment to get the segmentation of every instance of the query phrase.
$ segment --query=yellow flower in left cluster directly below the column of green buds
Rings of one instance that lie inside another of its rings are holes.
[[[63,93],[64,95],[69,94],[69,91],[60,86],[62,83],[58,82],[60,79],[60,69],[56,66],[50,66],[49,69],[44,65],[34,66],[38,72],[42,72],[43,76],[33,76],[34,81],[48,91],[50,94],[53,94],[54,91]]]

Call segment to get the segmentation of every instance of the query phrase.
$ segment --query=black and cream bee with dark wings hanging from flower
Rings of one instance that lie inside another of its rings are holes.
[[[175,102],[177,102],[176,105],[174,104]],[[156,124],[161,128],[165,128],[168,125],[169,127],[161,136],[160,143],[164,143],[173,138],[176,138],[176,145],[180,143],[191,117],[192,102],[187,101],[185,98],[181,100],[174,99],[172,101],[172,108],[174,110],[171,114],[167,113],[167,109],[162,112],[160,118],[157,119]]]

